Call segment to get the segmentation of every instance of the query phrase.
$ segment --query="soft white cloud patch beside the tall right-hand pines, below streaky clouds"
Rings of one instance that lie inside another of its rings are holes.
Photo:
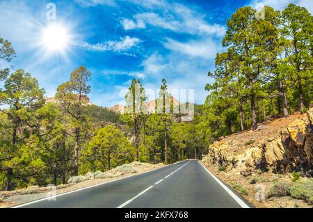
[[[216,42],[212,40],[200,40],[190,42],[177,42],[168,38],[167,42],[163,43],[164,47],[172,51],[177,51],[180,54],[187,56],[201,57],[201,58],[214,58],[218,51]]]

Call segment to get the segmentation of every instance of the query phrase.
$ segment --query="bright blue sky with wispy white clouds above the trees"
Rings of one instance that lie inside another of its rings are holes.
[[[56,20],[47,19],[47,3],[55,3]],[[10,64],[36,77],[47,96],[84,65],[92,73],[90,101],[101,106],[122,103],[131,79],[159,89],[194,89],[195,102],[207,96],[214,57],[227,18],[241,6],[259,3],[282,10],[296,3],[313,11],[311,0],[1,0],[0,35],[13,43],[17,58]],[[59,24],[70,36],[66,48],[47,52],[42,30]]]

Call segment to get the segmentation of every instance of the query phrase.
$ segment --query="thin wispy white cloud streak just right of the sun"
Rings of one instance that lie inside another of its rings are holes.
[[[97,43],[95,45],[89,44],[88,42],[76,42],[74,45],[77,45],[81,49],[88,51],[127,51],[132,47],[138,45],[141,42],[138,38],[131,38],[128,35],[125,38],[120,38],[120,40],[109,40],[107,42]]]

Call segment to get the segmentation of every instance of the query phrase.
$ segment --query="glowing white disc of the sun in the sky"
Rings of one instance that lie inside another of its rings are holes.
[[[65,51],[69,42],[70,35],[67,29],[60,24],[51,24],[42,32],[42,45],[50,52]]]

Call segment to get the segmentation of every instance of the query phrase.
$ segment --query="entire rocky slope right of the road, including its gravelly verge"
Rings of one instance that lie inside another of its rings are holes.
[[[210,145],[209,154],[204,156],[202,162],[227,184],[235,189],[239,187],[239,193],[246,194],[246,198],[256,206],[310,205],[313,203],[313,179],[307,178],[313,176],[312,122],[313,108],[288,118],[268,120],[259,125],[256,131],[248,130],[220,138]],[[296,185],[291,181],[298,178],[307,187],[301,187],[306,193],[296,198],[310,201],[294,203],[294,199],[290,198],[289,187]],[[277,182],[288,187],[286,192],[268,194],[269,190],[277,188]],[[271,197],[270,202],[268,199],[261,202],[256,200],[258,184],[264,186],[264,195]],[[280,198],[274,201],[273,196]],[[289,196],[287,202],[282,200],[282,196]]]

